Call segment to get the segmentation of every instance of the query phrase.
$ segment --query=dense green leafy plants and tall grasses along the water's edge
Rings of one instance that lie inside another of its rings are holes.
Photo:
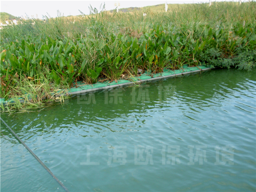
[[[4,26],[0,96],[15,103],[1,110],[40,108],[77,81],[131,79],[185,64],[255,67],[256,2],[171,4],[168,12],[103,10]]]

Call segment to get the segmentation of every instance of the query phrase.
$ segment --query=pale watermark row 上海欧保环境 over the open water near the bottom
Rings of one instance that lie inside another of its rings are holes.
[[[189,162],[188,165],[203,165],[207,160],[207,145],[188,145],[189,148]],[[99,165],[99,162],[91,160],[91,154],[99,151],[98,148],[90,149],[90,146],[86,146],[86,161],[80,163],[81,165]],[[234,147],[232,146],[215,146],[215,165],[234,165]],[[127,163],[127,147],[115,146],[108,148],[108,161],[107,164],[119,163],[125,165]],[[157,150],[157,153],[162,155],[162,165],[180,165],[181,164],[181,152],[180,145],[163,145],[162,149]],[[185,151],[182,151],[183,153]],[[146,145],[134,146],[134,165],[154,165],[153,161],[154,148]]]

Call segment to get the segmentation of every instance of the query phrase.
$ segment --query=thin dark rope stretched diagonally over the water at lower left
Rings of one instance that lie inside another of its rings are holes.
[[[38,162],[44,167],[44,169],[47,170],[47,172],[52,175],[52,177],[60,184],[60,186],[66,191],[66,192],[70,192],[64,185],[63,183],[61,183],[60,180],[58,180],[57,177],[55,177],[55,175],[53,175],[53,173],[51,172],[51,170],[44,165],[44,163],[38,158],[38,156],[36,156],[33,151],[31,151],[31,149],[20,139],[19,136],[17,136],[17,134],[15,134],[14,131],[12,131],[12,129],[6,124],[6,122],[0,117],[0,119],[3,121],[3,123],[6,125],[7,128],[9,128],[9,130],[12,132],[12,134],[17,138],[18,141],[20,141],[20,143],[22,143],[22,145],[24,145],[24,147],[35,157],[36,160],[38,160]]]

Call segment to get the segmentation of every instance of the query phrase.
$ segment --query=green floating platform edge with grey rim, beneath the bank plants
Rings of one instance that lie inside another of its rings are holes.
[[[129,84],[136,84],[136,83],[142,83],[145,81],[152,81],[157,79],[166,79],[173,76],[180,76],[185,75],[188,73],[197,73],[205,70],[210,70],[210,67],[206,66],[196,66],[196,67],[188,67],[187,65],[183,65],[182,68],[179,70],[168,70],[164,69],[163,73],[156,73],[154,75],[151,75],[150,73],[143,73],[138,77],[133,77],[130,80],[118,80],[116,81],[105,81],[103,83],[97,82],[95,84],[83,84],[81,81],[77,82],[77,87],[72,87],[68,90],[67,95],[76,95],[80,93],[87,93],[92,92],[96,90],[103,90],[103,89],[109,89],[113,87],[121,87],[126,86]],[[19,98],[20,102],[24,102],[23,98]],[[15,101],[13,99],[8,99],[5,101],[3,98],[0,99],[0,103],[3,103],[3,105],[7,105],[9,103],[14,103]]]

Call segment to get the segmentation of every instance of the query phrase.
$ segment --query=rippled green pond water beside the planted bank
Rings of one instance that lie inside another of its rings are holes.
[[[256,191],[256,70],[211,70],[1,115],[70,192]],[[64,191],[1,124],[1,192]]]

